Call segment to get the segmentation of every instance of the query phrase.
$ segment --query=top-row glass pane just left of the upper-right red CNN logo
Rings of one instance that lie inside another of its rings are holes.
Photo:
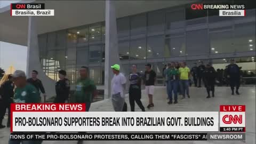
[[[178,29],[185,27],[184,10],[177,10],[165,13],[166,29]]]

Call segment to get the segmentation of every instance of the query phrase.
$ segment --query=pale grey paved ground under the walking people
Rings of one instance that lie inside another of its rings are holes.
[[[220,105],[246,105],[246,141],[84,141],[84,143],[173,143],[173,144],[203,144],[203,143],[255,143],[255,86],[241,87],[240,95],[231,95],[229,87],[215,87],[215,97],[206,99],[206,91],[203,87],[190,87],[190,99],[181,100],[175,105],[167,105],[165,87],[155,87],[154,104],[155,107],[146,111],[219,111]],[[129,100],[126,98],[129,105]],[[146,107],[148,104],[147,95],[142,91],[142,103]],[[128,108],[130,110],[130,107]],[[92,104],[90,111],[114,111],[110,100],[98,101]],[[140,111],[138,106],[135,106],[135,111]],[[4,120],[6,122],[6,118]],[[0,144],[7,144],[9,139],[10,129],[0,130]],[[44,144],[59,144],[59,143],[76,143],[75,141],[44,141]]]

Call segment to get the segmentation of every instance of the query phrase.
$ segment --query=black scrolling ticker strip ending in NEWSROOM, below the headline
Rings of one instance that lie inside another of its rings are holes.
[[[239,140],[245,133],[11,133],[11,140]]]

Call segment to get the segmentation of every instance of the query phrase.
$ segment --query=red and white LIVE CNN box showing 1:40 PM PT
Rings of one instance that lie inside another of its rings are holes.
[[[220,131],[245,132],[245,106],[221,105],[220,106]]]

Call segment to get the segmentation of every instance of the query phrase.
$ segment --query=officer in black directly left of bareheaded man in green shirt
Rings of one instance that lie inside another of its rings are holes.
[[[54,99],[54,103],[65,103],[68,100],[69,91],[70,91],[70,83],[67,78],[65,70],[59,71],[60,80],[55,85],[56,97]]]

